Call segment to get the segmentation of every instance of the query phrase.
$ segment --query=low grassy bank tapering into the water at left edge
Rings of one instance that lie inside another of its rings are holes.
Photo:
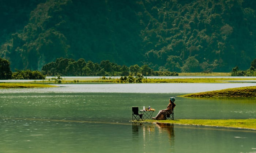
[[[35,84],[35,83],[0,83],[0,88],[42,88],[57,87],[53,85]]]

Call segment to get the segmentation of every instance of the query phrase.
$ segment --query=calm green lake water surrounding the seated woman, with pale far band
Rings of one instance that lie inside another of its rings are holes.
[[[0,89],[0,152],[256,152],[256,131],[133,123],[132,106],[156,109],[176,97],[175,119],[256,118],[256,98],[178,95],[255,83],[63,84]]]

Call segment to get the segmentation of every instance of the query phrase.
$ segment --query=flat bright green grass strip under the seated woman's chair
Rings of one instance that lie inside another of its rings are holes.
[[[236,127],[256,130],[256,119],[178,119],[178,120],[145,120],[143,122],[175,123],[182,125],[203,125]]]

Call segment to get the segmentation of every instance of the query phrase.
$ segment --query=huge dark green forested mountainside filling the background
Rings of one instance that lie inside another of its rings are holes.
[[[4,0],[0,57],[18,70],[57,58],[230,72],[256,58],[255,0]]]

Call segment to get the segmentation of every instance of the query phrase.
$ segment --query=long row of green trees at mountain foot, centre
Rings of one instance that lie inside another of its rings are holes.
[[[102,60],[100,63],[85,61],[80,58],[74,59],[58,58],[55,62],[45,64],[42,74],[47,76],[178,76],[177,72],[154,71],[148,65],[138,64],[127,67],[118,65],[109,60]]]

